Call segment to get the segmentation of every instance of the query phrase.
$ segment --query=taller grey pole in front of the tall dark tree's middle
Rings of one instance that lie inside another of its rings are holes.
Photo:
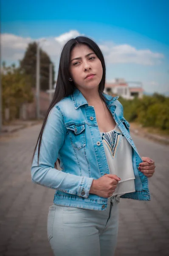
[[[37,74],[36,74],[36,117],[39,119],[39,90],[40,90],[40,49],[37,42]]]

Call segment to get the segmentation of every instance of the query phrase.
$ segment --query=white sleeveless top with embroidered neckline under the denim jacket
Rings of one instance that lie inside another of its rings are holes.
[[[132,147],[115,125],[112,131],[100,132],[110,174],[115,174],[121,178],[112,196],[120,196],[125,193],[135,192],[134,171],[132,167]]]

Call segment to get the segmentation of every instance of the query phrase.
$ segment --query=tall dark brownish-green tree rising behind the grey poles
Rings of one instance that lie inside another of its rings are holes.
[[[36,87],[36,65],[37,65],[37,43],[28,44],[25,55],[20,60],[20,68],[25,74],[31,76],[31,86]],[[46,52],[40,49],[40,89],[49,89],[49,64],[52,63],[50,57]],[[53,65],[53,84],[54,81],[54,65]]]

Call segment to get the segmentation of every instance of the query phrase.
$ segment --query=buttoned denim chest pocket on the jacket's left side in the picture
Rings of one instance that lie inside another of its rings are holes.
[[[85,147],[85,125],[69,125],[66,128],[73,147],[78,150]]]

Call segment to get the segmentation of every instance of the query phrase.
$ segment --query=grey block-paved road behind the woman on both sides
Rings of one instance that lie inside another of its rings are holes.
[[[0,256],[53,256],[47,239],[54,190],[31,182],[31,155],[40,125],[0,140]],[[169,146],[132,136],[156,163],[151,201],[121,199],[115,256],[169,255]]]

